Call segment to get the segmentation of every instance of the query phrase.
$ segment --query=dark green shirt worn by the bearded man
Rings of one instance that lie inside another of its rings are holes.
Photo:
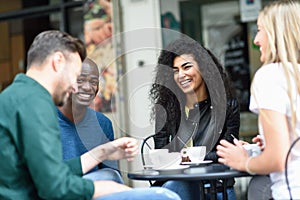
[[[56,107],[25,74],[0,94],[0,199],[91,199],[80,158],[65,164]]]

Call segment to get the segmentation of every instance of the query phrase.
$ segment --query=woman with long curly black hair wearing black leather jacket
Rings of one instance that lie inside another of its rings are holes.
[[[238,138],[239,103],[229,78],[217,58],[191,38],[175,40],[161,51],[150,98],[157,149],[206,146],[205,160],[218,162],[219,141]],[[230,199],[235,199],[233,184],[228,181]],[[163,186],[182,199],[200,197],[198,182],[167,181]]]

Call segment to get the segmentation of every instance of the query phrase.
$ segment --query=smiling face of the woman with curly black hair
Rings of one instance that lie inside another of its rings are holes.
[[[183,54],[175,57],[173,73],[175,82],[185,94],[196,93],[197,97],[206,94],[205,82],[192,55]]]

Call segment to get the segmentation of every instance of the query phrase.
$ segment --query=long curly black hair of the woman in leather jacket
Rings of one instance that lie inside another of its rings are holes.
[[[211,71],[217,68],[225,86],[226,98],[234,97],[234,92],[226,71],[208,49],[187,37],[171,42],[161,51],[158,58],[155,69],[156,77],[150,89],[149,97],[152,103],[151,120],[153,121],[158,113],[164,113],[167,115],[166,123],[171,126],[173,125],[173,127],[175,126],[176,130],[179,127],[178,122],[181,119],[181,109],[185,105],[186,95],[174,81],[172,66],[175,57],[183,54],[193,56],[198,63],[204,81],[213,74]],[[209,94],[209,86],[207,86],[207,90]]]

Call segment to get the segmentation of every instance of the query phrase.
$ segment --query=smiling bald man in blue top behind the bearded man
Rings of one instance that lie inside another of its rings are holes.
[[[86,58],[77,78],[77,91],[58,107],[64,160],[80,157],[100,144],[114,140],[112,123],[105,115],[89,108],[98,92],[99,70],[95,62]],[[88,165],[83,158],[81,162]],[[106,160],[87,169],[92,180],[114,180],[123,183],[117,161]],[[91,168],[91,169],[90,169]]]

